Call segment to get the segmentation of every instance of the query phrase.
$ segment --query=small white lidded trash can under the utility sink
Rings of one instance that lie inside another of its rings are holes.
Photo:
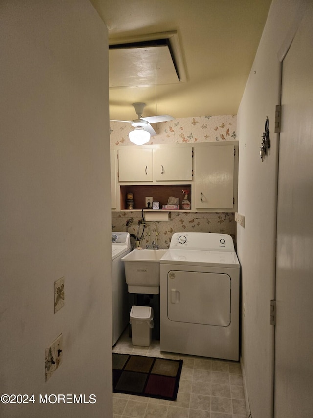
[[[132,325],[132,344],[149,347],[154,327],[151,306],[132,306],[129,322]]]

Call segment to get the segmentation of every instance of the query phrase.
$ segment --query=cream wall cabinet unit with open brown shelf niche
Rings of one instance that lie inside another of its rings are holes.
[[[238,150],[238,141],[114,147],[112,209],[126,209],[129,191],[140,210],[147,196],[166,204],[188,189],[193,212],[236,212]]]

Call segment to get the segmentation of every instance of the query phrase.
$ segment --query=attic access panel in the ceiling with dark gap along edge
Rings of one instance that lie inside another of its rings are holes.
[[[179,83],[168,39],[109,46],[110,87],[147,87],[154,86],[156,81],[157,84]]]

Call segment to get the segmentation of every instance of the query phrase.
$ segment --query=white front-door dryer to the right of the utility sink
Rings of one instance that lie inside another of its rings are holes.
[[[239,359],[239,261],[230,235],[181,232],[160,260],[160,349]]]

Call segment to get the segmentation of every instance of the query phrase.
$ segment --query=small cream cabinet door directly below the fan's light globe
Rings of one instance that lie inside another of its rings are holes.
[[[118,180],[120,182],[152,181],[152,149],[120,148],[118,150]]]

